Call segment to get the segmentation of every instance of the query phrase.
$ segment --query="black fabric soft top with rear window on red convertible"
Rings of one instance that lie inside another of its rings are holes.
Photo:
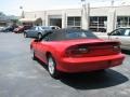
[[[47,31],[43,39],[48,41],[61,41],[61,40],[73,40],[73,39],[98,39],[98,37],[90,30],[65,28]]]

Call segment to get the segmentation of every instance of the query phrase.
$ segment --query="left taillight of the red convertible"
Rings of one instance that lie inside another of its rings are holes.
[[[67,56],[83,56],[84,54],[87,54],[89,52],[88,47],[69,47],[66,50],[66,55]]]

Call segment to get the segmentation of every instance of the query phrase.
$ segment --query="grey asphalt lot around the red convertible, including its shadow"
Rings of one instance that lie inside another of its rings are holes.
[[[130,55],[105,72],[52,79],[22,33],[0,33],[0,97],[130,97]]]

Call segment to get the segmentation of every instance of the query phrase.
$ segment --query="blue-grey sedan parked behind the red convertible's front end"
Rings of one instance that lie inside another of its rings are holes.
[[[46,27],[46,26],[34,26],[28,30],[24,31],[24,37],[38,37],[39,39],[44,34],[46,31],[52,30],[53,27]]]

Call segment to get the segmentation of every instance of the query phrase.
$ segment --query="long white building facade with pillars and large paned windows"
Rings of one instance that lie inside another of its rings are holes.
[[[84,23],[94,32],[109,32],[118,27],[130,26],[130,5],[102,6],[82,9],[64,9],[25,12],[25,18],[41,18],[39,25],[58,26],[61,28],[83,28]],[[82,19],[89,17],[88,19]]]

